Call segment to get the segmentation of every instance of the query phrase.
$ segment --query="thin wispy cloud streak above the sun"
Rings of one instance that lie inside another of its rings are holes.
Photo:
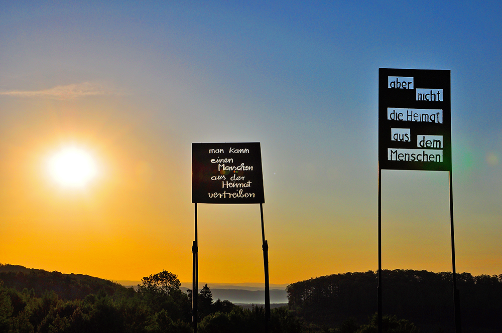
[[[0,91],[0,95],[26,98],[49,98],[49,99],[75,99],[86,96],[111,95],[115,92],[105,89],[100,84],[84,82],[68,84],[64,86],[56,86],[44,90],[11,90]]]

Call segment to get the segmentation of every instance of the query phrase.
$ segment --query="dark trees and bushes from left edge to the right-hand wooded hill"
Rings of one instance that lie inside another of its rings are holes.
[[[168,271],[136,291],[85,275],[0,265],[0,333],[191,333],[191,290]],[[200,333],[265,331],[263,306],[244,309],[198,293]],[[315,332],[286,307],[273,309],[271,333]],[[312,326],[314,327],[314,326]]]

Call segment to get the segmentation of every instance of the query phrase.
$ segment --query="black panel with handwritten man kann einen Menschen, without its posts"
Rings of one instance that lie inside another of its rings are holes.
[[[265,203],[260,142],[192,143],[192,203]]]

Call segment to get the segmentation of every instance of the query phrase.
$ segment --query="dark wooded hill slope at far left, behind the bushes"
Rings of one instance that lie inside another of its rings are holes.
[[[0,280],[4,286],[22,291],[33,289],[40,296],[46,291],[54,291],[60,299],[82,299],[88,294],[103,289],[109,295],[128,292],[128,289],[112,281],[83,274],[63,274],[57,271],[26,268],[19,265],[0,264]]]

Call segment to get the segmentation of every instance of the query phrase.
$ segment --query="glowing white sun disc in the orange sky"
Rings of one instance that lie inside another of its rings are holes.
[[[48,159],[52,178],[64,187],[82,188],[97,175],[94,157],[76,146],[62,148]]]

